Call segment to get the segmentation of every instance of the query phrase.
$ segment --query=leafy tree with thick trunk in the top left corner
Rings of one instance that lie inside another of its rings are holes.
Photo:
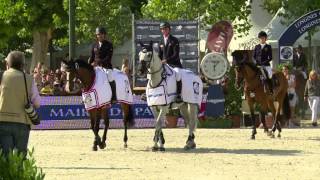
[[[12,32],[17,32],[20,38],[32,37],[30,70],[37,62],[44,62],[47,58],[48,44],[55,30],[55,22],[67,17],[62,2],[63,0],[0,1],[0,22],[13,30],[7,33],[6,37],[16,37]]]

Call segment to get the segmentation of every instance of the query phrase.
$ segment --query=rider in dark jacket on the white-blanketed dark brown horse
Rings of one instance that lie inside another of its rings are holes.
[[[92,66],[101,66],[107,70],[109,83],[112,91],[111,102],[117,100],[116,97],[116,83],[112,76],[112,64],[111,58],[113,54],[112,43],[106,40],[106,29],[103,27],[96,28],[96,42],[91,49],[91,56],[89,58],[89,64]]]

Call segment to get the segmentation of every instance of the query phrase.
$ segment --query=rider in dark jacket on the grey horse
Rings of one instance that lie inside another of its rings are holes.
[[[173,67],[179,74],[179,70],[182,68],[182,64],[179,58],[179,41],[176,37],[170,34],[170,24],[168,22],[160,23],[160,31],[163,35],[159,43],[159,58],[163,64],[168,64]],[[182,82],[181,77],[177,78],[177,98],[176,102],[182,102],[181,98]]]

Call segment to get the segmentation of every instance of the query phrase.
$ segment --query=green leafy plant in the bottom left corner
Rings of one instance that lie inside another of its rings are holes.
[[[11,151],[8,157],[1,155],[0,151],[0,180],[23,179],[23,180],[42,180],[45,174],[38,168],[33,158],[33,152],[29,151],[27,159],[17,151]]]

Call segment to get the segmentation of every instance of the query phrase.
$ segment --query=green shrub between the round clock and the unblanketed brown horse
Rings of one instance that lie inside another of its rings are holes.
[[[240,115],[242,106],[242,94],[243,89],[240,90],[235,88],[235,69],[231,66],[227,74],[229,80],[227,85],[227,94],[225,96],[225,113],[226,115]]]

